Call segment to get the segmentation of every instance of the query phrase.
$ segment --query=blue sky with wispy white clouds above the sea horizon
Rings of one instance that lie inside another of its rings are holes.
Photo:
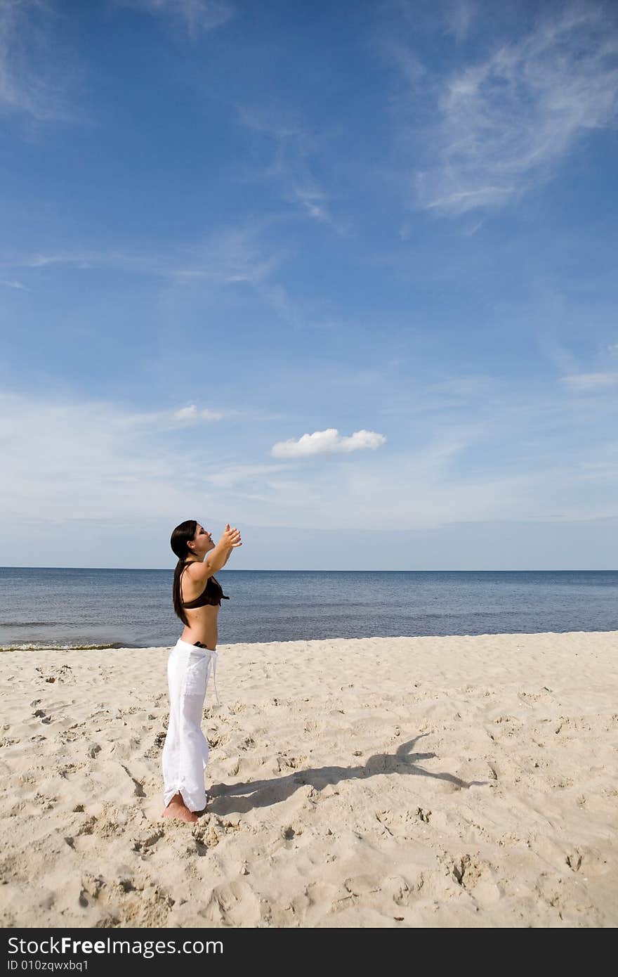
[[[615,568],[617,93],[611,3],[0,2],[0,563]]]

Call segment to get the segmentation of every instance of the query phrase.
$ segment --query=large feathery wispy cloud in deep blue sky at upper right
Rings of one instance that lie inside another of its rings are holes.
[[[415,175],[422,207],[500,207],[549,179],[578,139],[615,118],[615,8],[539,10],[525,36],[437,82],[437,122],[424,134],[433,159]]]

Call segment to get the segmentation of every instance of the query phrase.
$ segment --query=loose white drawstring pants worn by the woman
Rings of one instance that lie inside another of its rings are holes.
[[[170,690],[170,721],[163,746],[163,799],[165,806],[181,793],[189,811],[206,807],[204,768],[208,743],[202,733],[202,709],[211,668],[217,704],[217,652],[196,648],[180,638],[170,652],[167,679]]]

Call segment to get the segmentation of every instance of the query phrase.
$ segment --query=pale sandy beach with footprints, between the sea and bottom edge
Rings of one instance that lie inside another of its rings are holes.
[[[219,653],[196,825],[169,649],[0,656],[4,927],[618,924],[617,632]]]

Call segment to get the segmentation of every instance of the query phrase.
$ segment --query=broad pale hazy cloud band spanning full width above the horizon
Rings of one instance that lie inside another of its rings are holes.
[[[603,437],[599,413],[582,419],[579,407],[567,400],[551,411],[526,402],[517,413],[492,404],[491,424],[458,425],[463,410],[456,405],[445,417],[417,417],[414,443],[390,436],[391,451],[375,455],[350,442],[378,446],[384,436],[315,432],[333,453],[329,464],[304,465],[300,477],[300,442],[268,460],[251,439],[239,446],[223,433],[217,441],[217,427],[208,439],[195,438],[174,416],[182,408],[0,395],[0,454],[10,473],[0,482],[0,522],[9,529],[38,516],[49,523],[103,515],[142,525],[208,511],[225,524],[233,511],[238,525],[310,531],[616,516],[613,429]],[[324,448],[319,441],[309,442],[309,454]],[[496,451],[505,442],[506,457]]]

